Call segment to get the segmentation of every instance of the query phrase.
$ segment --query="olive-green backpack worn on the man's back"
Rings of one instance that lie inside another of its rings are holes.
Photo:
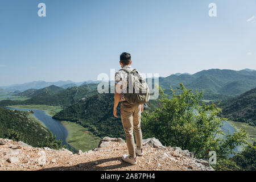
[[[125,100],[129,104],[140,105],[145,104],[150,99],[149,89],[147,82],[140,78],[139,73],[136,69],[130,71],[129,69],[121,69],[128,73],[128,85],[125,88],[126,92],[123,92],[125,95]]]

